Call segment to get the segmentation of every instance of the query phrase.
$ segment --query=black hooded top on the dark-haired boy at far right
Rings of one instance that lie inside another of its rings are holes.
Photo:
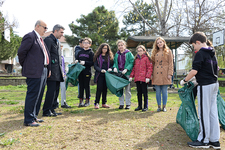
[[[198,85],[209,85],[217,82],[218,64],[215,50],[211,47],[201,48],[195,55],[192,69],[197,70],[195,75]]]

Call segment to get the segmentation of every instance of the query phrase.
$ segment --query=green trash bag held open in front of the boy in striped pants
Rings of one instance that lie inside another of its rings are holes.
[[[195,141],[199,133],[199,120],[192,92],[193,88],[194,84],[188,82],[188,84],[185,84],[183,88],[178,90],[182,104],[177,112],[176,122],[185,130],[188,137]]]

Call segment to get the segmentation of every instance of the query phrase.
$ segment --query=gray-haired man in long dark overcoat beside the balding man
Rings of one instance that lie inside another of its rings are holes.
[[[60,82],[63,82],[62,57],[59,40],[64,33],[65,28],[59,24],[53,27],[53,33],[44,39],[51,56],[51,77],[47,80],[47,92],[43,106],[43,116],[51,117],[61,115],[56,113],[58,107],[58,95]]]

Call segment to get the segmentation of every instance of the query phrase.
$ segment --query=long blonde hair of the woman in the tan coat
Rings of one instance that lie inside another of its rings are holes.
[[[156,53],[159,52],[159,47],[157,46],[157,41],[158,40],[162,40],[164,42],[164,46],[163,46],[163,55],[164,57],[166,58],[167,54],[169,53],[169,47],[166,45],[166,41],[162,38],[162,37],[158,37],[154,44],[153,44],[153,49],[152,49],[152,54],[151,54],[151,59],[152,59],[152,62],[155,63],[155,55]]]

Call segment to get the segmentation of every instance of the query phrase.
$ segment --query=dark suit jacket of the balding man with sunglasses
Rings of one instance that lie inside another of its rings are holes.
[[[47,46],[46,50],[48,52]],[[51,60],[48,52],[49,61]],[[44,68],[44,53],[36,33],[30,32],[23,37],[18,49],[18,58],[22,66],[22,75],[27,78],[40,78]],[[50,71],[51,63],[48,65]]]

